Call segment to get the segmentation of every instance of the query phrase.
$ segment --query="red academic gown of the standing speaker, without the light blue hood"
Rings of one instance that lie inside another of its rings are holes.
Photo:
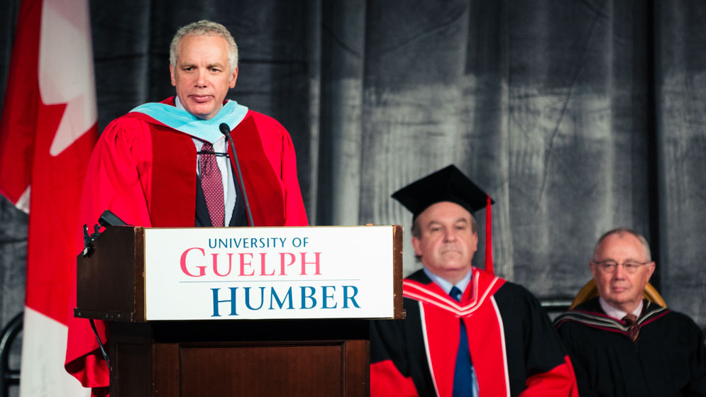
[[[174,106],[174,97],[161,104]],[[247,108],[239,118],[237,125],[228,125],[255,226],[308,225],[289,133],[275,119]],[[196,169],[192,136],[144,113],[133,111],[117,118],[101,134],[87,165],[79,225],[87,224],[92,230],[101,213],[109,209],[130,225],[193,227]],[[82,237],[77,240],[79,252]],[[72,308],[75,302],[74,285]],[[96,325],[105,342],[104,324],[96,321]],[[109,373],[89,323],[74,318],[73,313],[65,367],[85,387],[109,386]],[[105,390],[94,395],[102,393]]]

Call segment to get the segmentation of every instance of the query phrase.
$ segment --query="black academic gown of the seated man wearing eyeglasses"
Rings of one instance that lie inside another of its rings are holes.
[[[556,318],[581,397],[706,396],[703,335],[688,316],[644,301],[637,342],[598,298]]]

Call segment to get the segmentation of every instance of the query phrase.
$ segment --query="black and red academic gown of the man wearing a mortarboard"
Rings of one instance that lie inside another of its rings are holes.
[[[473,269],[461,303],[420,270],[404,279],[404,320],[370,328],[371,396],[451,397],[459,318],[480,397],[578,396],[546,313],[522,286]]]

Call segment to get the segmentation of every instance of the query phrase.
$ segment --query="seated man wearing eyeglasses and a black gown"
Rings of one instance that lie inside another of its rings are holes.
[[[706,396],[701,330],[643,298],[655,269],[645,238],[610,230],[590,268],[599,296],[555,320],[580,396]]]

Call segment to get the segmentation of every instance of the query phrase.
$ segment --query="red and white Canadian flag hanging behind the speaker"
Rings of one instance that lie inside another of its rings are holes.
[[[0,193],[29,213],[20,395],[89,396],[64,369],[78,203],[97,137],[87,0],[23,0],[0,122]]]

